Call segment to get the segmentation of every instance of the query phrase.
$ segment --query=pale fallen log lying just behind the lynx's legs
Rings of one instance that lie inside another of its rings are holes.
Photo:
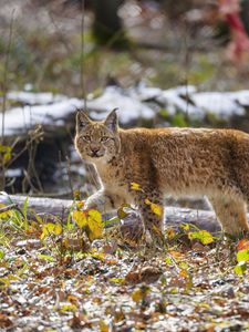
[[[14,195],[0,195],[0,204],[10,205],[15,204],[20,208],[23,207],[25,201],[25,196],[14,196]],[[56,216],[62,220],[66,220],[70,210],[72,209],[73,200],[69,199],[55,199],[45,197],[29,197],[28,198],[28,214],[31,215],[35,211],[38,215],[42,216]],[[249,220],[249,214],[248,214]],[[179,207],[166,207],[165,212],[165,226],[178,228],[183,224],[193,224],[200,229],[206,229],[210,232],[216,232],[220,230],[219,224],[217,221],[216,215],[210,210],[198,210],[190,208],[179,208]],[[141,225],[139,216],[135,212],[129,214],[123,220],[123,225],[128,227],[134,227],[134,225]]]

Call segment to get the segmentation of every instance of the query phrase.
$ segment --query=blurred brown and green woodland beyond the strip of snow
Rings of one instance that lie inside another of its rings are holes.
[[[0,2],[0,83],[9,52],[8,90],[30,83],[33,91],[81,96],[83,60],[87,92],[110,77],[123,86],[248,85],[249,48],[240,45],[236,22],[238,15],[249,32],[248,0],[85,0],[84,18],[82,0]]]

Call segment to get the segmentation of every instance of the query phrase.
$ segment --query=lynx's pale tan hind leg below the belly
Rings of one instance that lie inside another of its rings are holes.
[[[249,231],[245,200],[234,197],[209,197],[208,199],[225,232],[239,235]]]

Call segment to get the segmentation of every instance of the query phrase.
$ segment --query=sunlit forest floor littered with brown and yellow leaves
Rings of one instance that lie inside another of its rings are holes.
[[[89,243],[81,219],[1,214],[0,331],[248,331],[249,240],[188,225],[166,237]]]

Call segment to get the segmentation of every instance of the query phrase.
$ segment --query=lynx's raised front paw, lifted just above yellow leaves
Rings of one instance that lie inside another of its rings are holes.
[[[84,208],[107,212],[117,209],[123,203],[124,200],[118,195],[98,190],[86,199]]]

